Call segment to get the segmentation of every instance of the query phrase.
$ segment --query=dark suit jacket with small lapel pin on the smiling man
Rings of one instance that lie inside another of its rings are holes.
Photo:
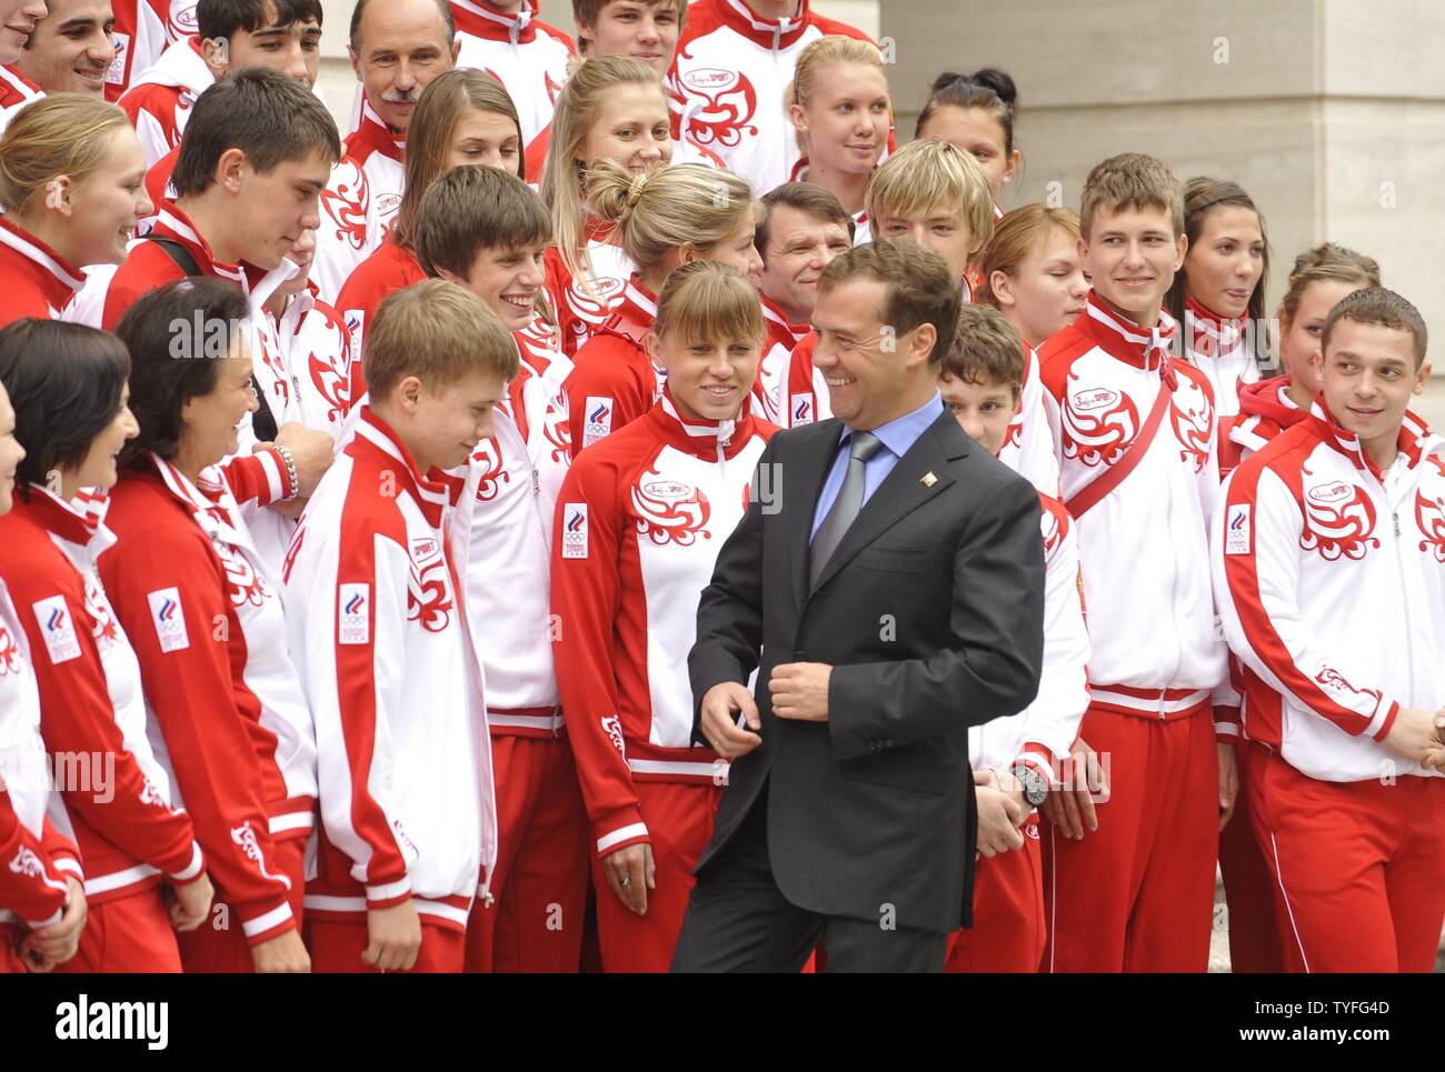
[[[695,702],[760,665],[763,744],[733,764],[698,871],[766,786],[773,876],[789,902],[952,930],[971,919],[968,727],[1022,711],[1039,688],[1039,500],[944,407],[809,592],[809,530],[840,435],[824,420],[773,438],[760,494],[702,592],[688,656]],[[828,722],[773,715],[767,680],[790,662],[834,666]]]

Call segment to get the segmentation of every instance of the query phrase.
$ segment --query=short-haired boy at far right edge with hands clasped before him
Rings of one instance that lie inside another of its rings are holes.
[[[1445,922],[1445,441],[1406,409],[1425,345],[1394,292],[1341,301],[1309,416],[1215,514],[1250,818],[1296,971],[1431,971]]]

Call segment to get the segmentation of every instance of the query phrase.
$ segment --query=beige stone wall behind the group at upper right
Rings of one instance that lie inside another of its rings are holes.
[[[1025,170],[1006,207],[1078,204],[1090,166],[1150,152],[1243,185],[1269,222],[1272,306],[1327,238],[1381,263],[1445,331],[1445,4],[1379,0],[883,0],[900,136],[945,68],[1019,84]],[[1058,183],[1051,186],[1051,183]],[[1445,371],[1445,360],[1436,361]]]

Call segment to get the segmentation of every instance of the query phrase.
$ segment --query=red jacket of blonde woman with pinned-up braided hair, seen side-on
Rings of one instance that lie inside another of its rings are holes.
[[[621,302],[592,340],[577,351],[566,377],[572,457],[631,423],[662,394],[662,374],[642,340],[657,319],[657,298],[633,276]]]

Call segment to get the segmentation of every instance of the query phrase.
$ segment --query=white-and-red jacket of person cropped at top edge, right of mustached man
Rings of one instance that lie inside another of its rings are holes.
[[[461,42],[457,66],[486,71],[506,87],[522,121],[527,182],[540,182],[552,113],[577,45],[538,19],[538,0],[513,13],[499,12],[484,0],[451,0],[451,9]]]

